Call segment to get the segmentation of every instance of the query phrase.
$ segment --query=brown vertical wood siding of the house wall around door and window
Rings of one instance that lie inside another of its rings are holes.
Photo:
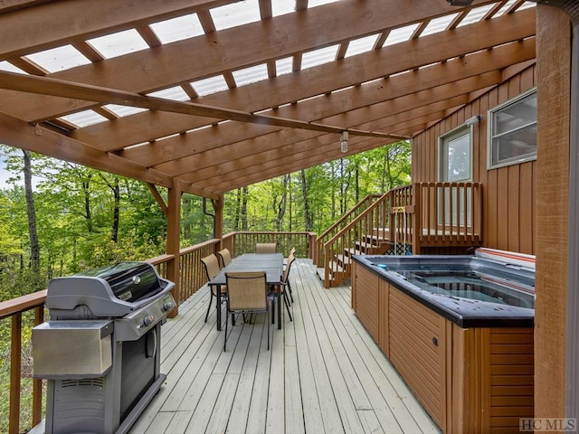
[[[473,129],[471,181],[482,184],[484,247],[536,253],[536,161],[487,169],[488,110],[535,86],[532,65],[413,139],[413,182],[439,181],[439,137],[468,118],[483,117]]]

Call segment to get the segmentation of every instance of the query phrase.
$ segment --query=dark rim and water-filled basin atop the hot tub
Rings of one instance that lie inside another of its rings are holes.
[[[462,327],[532,326],[535,269],[478,256],[357,256],[394,287]]]

